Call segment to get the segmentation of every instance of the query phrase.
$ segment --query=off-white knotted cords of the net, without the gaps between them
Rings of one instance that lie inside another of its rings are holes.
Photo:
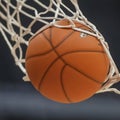
[[[0,17],[4,21],[7,21],[6,22],[7,25],[0,23],[0,32],[2,33],[10,51],[11,51],[11,54],[15,59],[16,65],[18,65],[19,68],[21,69],[21,71],[25,74],[25,77],[24,77],[25,81],[29,81],[29,78],[26,73],[25,67],[23,65],[25,63],[25,58],[23,58],[23,50],[22,50],[21,44],[25,44],[26,46],[28,46],[29,40],[26,40],[24,38],[24,36],[29,34],[29,35],[31,35],[31,38],[32,38],[38,32],[44,30],[45,28],[47,28],[49,26],[54,25],[54,26],[60,27],[60,28],[72,28],[76,31],[80,31],[85,34],[92,35],[99,39],[99,41],[103,45],[105,52],[107,53],[107,55],[109,57],[110,70],[109,70],[108,76],[106,77],[105,84],[102,86],[101,90],[99,90],[97,93],[113,91],[117,94],[120,94],[119,90],[117,90],[116,88],[111,88],[111,86],[113,84],[118,83],[120,81],[120,73],[119,73],[119,70],[110,54],[108,44],[105,41],[102,34],[97,30],[95,25],[93,25],[91,22],[89,22],[87,20],[87,18],[83,15],[83,13],[81,12],[81,10],[79,8],[77,0],[70,0],[70,2],[73,4],[73,6],[75,8],[75,11],[72,11],[69,7],[67,7],[63,3],[62,0],[49,0],[50,2],[49,2],[48,6],[46,6],[45,4],[43,4],[42,2],[40,2],[38,0],[34,0],[35,3],[37,3],[40,7],[45,9],[45,11],[43,11],[43,12],[38,12],[36,8],[27,4],[26,3],[27,0],[16,0],[16,1],[17,1],[17,5],[15,6],[11,3],[11,0],[4,0],[4,2],[6,4],[6,6],[5,6],[3,4],[3,1],[0,0],[0,7],[6,13],[6,14],[4,14],[1,12]],[[64,7],[69,13],[71,13],[72,16],[66,15],[65,12],[62,10],[61,6]],[[24,11],[23,7],[34,11],[34,15],[31,15],[31,14],[27,13],[26,11]],[[14,10],[12,14],[10,13],[10,8],[12,8]],[[44,14],[47,14],[48,12],[54,13],[54,16],[52,16],[52,17],[51,16],[48,16],[48,17],[42,16]],[[27,16],[28,18],[32,19],[32,22],[27,27],[22,25],[21,19],[20,19],[20,13]],[[70,21],[71,24],[68,26],[58,25],[56,21],[60,20],[60,19],[67,19]],[[52,21],[48,22],[47,20],[52,20]],[[76,21],[80,22],[81,24],[86,25],[87,27],[92,29],[93,32],[90,32],[90,31],[87,31],[87,30],[84,30],[81,28],[77,28],[75,26],[73,20],[76,20]],[[42,27],[40,30],[38,30],[36,33],[32,32],[32,30],[31,30],[31,28],[33,27],[35,22],[40,22],[40,23],[45,24],[45,26]],[[15,32],[13,25],[16,25],[19,27],[19,30],[20,30],[19,34],[17,34]],[[14,45],[11,44],[6,33],[11,36],[11,41],[14,42]],[[17,55],[16,50],[19,50],[19,55]]]

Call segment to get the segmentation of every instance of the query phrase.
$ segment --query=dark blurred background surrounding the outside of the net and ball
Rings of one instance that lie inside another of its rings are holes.
[[[79,0],[84,15],[109,43],[120,68],[119,0]],[[10,51],[0,34],[0,120],[120,120],[120,95],[102,93],[76,104],[55,103],[42,97],[22,80]],[[120,84],[114,87],[120,88]]]

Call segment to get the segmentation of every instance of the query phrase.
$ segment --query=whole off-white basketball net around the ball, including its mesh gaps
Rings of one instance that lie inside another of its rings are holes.
[[[71,7],[68,7],[71,5]],[[120,81],[118,68],[111,57],[107,42],[97,28],[82,14],[77,0],[0,0],[0,32],[6,41],[16,65],[25,74],[24,80],[29,81],[25,70],[25,50],[29,39],[37,32],[49,26],[72,28],[84,34],[97,37],[110,59],[110,69],[100,91],[113,91],[120,94],[112,85]],[[58,25],[56,21],[67,19],[70,25]],[[73,20],[89,27],[91,31],[77,28]]]

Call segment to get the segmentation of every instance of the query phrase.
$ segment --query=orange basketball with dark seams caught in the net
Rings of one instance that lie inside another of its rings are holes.
[[[67,20],[58,23],[70,24]],[[52,26],[30,40],[25,66],[33,86],[42,95],[57,102],[75,103],[101,88],[109,71],[109,59],[96,37],[82,34]]]

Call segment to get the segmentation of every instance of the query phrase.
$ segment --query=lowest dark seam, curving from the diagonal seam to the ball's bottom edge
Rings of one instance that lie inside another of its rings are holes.
[[[62,70],[60,72],[60,82],[61,82],[61,87],[62,87],[62,90],[63,90],[63,93],[64,93],[66,99],[68,100],[68,102],[71,103],[72,101],[68,97],[67,92],[65,91],[65,88],[64,88],[64,84],[63,84],[63,72],[64,72],[65,67],[66,67],[66,65],[63,66],[63,68],[62,68]]]

